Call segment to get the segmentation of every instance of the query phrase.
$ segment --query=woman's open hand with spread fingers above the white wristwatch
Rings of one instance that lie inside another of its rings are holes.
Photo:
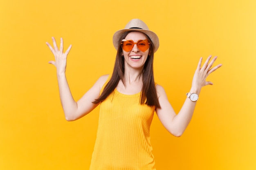
[[[195,74],[193,77],[193,81],[192,81],[192,88],[191,88],[192,91],[194,91],[196,93],[200,93],[201,88],[203,86],[213,85],[212,82],[207,82],[206,78],[213,71],[216,71],[218,68],[220,68],[222,66],[222,64],[218,64],[217,66],[211,68],[213,66],[214,62],[216,61],[216,59],[217,59],[217,56],[213,57],[213,59],[211,60],[211,55],[210,55],[201,68],[202,57],[200,58],[200,60],[198,62],[198,67],[196,68],[196,71],[195,71]],[[210,60],[211,60],[211,62],[210,62]]]

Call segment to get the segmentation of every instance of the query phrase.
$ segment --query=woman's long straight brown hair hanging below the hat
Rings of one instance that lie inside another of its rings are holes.
[[[124,33],[120,37],[119,42],[121,42],[121,40],[126,38],[126,35],[128,35],[128,33],[130,32],[132,31],[128,31]],[[150,40],[148,36],[147,38],[148,40]],[[150,54],[148,55],[148,58],[144,64],[144,73],[143,73],[143,79],[142,79],[143,85],[141,90],[140,103],[147,104],[148,106],[156,106],[157,108],[160,108],[160,104],[157,98],[157,92],[155,89],[155,80],[154,80],[154,74],[153,74],[154,46],[151,40],[150,40],[149,48],[150,48],[149,50]],[[115,90],[120,79],[122,81],[124,79],[124,57],[122,57],[121,45],[118,47],[118,50],[117,50],[115,66],[114,66],[114,70],[110,78],[110,81],[105,86],[100,97],[98,99],[95,99],[93,103],[98,104],[99,102],[103,102]]]

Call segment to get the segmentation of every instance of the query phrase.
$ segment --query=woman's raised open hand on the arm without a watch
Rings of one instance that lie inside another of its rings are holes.
[[[57,68],[57,74],[62,74],[65,73],[66,71],[66,66],[67,66],[67,55],[70,52],[70,49],[72,45],[68,47],[68,49],[63,53],[63,38],[61,38],[61,45],[60,49],[58,49],[58,46],[56,44],[56,40],[54,37],[52,37],[52,42],[53,42],[53,47],[46,42],[47,46],[49,49],[52,51],[55,61],[49,61],[49,64],[53,64]]]

